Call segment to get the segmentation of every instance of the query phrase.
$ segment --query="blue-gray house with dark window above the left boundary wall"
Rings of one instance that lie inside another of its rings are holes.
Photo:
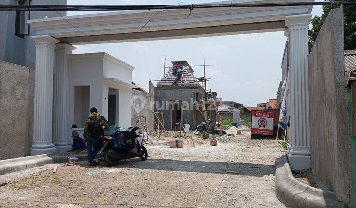
[[[4,5],[66,5],[67,0],[1,0]],[[66,11],[2,11],[0,12],[0,60],[35,68],[36,50],[30,36],[36,31],[28,19],[66,16]]]

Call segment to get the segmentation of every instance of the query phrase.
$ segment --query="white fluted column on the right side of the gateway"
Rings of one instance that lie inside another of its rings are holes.
[[[288,158],[293,170],[310,167],[308,25],[312,14],[286,17],[289,33],[290,140]]]

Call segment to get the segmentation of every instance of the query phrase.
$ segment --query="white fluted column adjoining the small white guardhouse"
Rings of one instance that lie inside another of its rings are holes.
[[[53,89],[53,143],[57,152],[71,148],[70,74],[69,55],[76,49],[65,43],[56,44],[54,49],[54,89]]]

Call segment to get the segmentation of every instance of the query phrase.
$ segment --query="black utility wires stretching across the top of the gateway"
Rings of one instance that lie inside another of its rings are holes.
[[[161,10],[161,9],[198,9],[223,7],[283,7],[314,5],[349,5],[356,1],[324,2],[286,2],[286,3],[230,3],[230,4],[191,4],[191,5],[3,5],[0,11],[33,10],[33,11],[122,11],[122,10]]]

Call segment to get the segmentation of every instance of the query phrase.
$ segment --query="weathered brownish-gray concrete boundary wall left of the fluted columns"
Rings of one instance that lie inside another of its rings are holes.
[[[0,160],[31,153],[34,87],[35,70],[0,61]]]

